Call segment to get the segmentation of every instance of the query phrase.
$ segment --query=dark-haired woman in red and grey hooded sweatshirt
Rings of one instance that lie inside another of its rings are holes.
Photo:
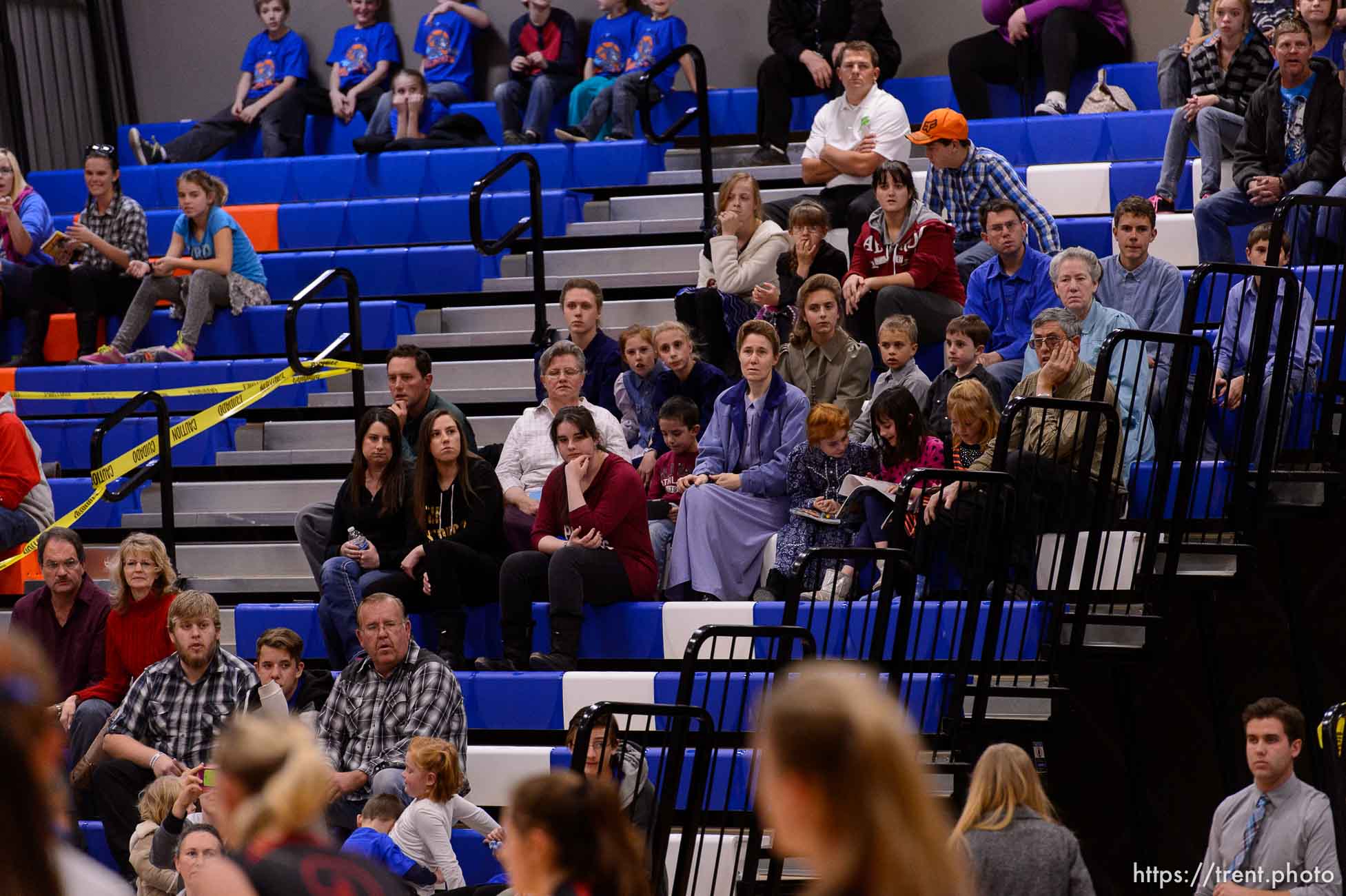
[[[911,315],[917,342],[942,343],[944,328],[966,301],[953,260],[953,227],[917,199],[905,161],[875,170],[874,198],[879,207],[860,230],[841,281],[847,332],[874,348],[888,315]]]

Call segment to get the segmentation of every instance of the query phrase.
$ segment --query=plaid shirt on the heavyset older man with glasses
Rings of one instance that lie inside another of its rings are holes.
[[[318,744],[327,761],[373,780],[385,768],[406,766],[412,737],[448,740],[467,767],[467,712],[448,665],[412,640],[406,659],[386,678],[367,657],[346,666],[318,717]],[[464,783],[462,792],[467,790]],[[346,799],[369,794],[366,784]]]

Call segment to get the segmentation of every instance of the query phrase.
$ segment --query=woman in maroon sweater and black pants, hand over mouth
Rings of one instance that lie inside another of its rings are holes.
[[[641,475],[608,453],[594,416],[576,405],[552,420],[561,465],[548,475],[533,521],[533,550],[501,566],[505,659],[478,659],[487,670],[572,670],[584,604],[650,600],[657,581]],[[533,595],[552,603],[552,652],[533,640]]]

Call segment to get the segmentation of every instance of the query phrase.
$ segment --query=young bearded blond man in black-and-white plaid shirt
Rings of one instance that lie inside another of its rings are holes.
[[[108,849],[128,880],[131,834],[140,823],[140,791],[155,778],[205,763],[234,706],[257,686],[253,667],[219,647],[219,605],[184,591],[168,607],[176,651],[145,669],[108,724],[109,759],[93,772]]]

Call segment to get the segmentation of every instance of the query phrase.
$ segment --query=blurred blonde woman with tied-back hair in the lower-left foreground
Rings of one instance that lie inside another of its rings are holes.
[[[332,770],[303,722],[236,717],[214,759],[219,829],[237,864],[207,864],[194,895],[318,896],[335,880],[350,896],[405,895],[388,870],[327,844]]]

